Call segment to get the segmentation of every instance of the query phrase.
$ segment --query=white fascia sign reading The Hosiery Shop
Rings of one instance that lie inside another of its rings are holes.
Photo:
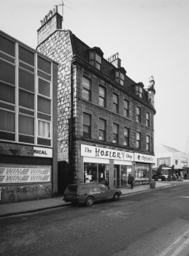
[[[133,153],[84,144],[81,144],[81,156],[133,161]]]

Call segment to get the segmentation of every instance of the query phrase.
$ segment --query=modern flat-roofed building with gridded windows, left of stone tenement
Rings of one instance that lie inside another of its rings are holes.
[[[0,203],[57,193],[57,66],[0,31]]]

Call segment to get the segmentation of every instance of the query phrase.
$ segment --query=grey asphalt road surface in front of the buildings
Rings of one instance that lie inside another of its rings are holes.
[[[189,255],[189,183],[0,219],[2,255]]]

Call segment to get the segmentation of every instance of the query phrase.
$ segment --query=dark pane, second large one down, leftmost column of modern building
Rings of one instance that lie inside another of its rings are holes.
[[[0,60],[0,80],[15,85],[15,66]]]

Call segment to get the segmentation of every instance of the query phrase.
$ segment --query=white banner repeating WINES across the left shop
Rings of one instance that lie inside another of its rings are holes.
[[[51,168],[0,167],[1,183],[44,183],[50,182]]]

